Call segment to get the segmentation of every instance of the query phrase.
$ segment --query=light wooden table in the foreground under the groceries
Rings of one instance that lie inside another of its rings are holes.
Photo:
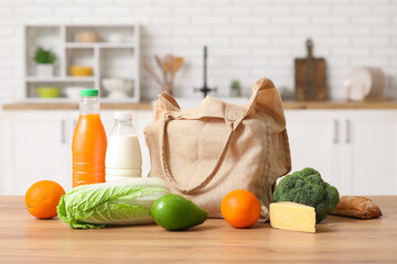
[[[207,220],[184,232],[158,226],[72,230],[39,220],[23,197],[0,197],[0,263],[397,263],[397,196],[373,197],[384,217],[329,217],[318,233]]]

